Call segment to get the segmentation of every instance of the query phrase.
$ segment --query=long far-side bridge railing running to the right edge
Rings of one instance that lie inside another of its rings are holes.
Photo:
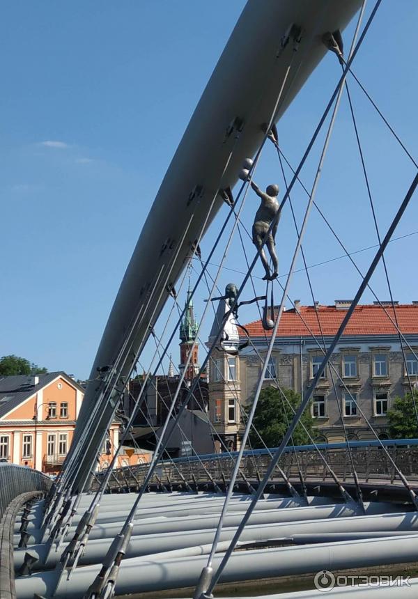
[[[389,456],[398,468],[410,481],[418,481],[418,439],[401,439],[396,441],[382,442],[386,446]],[[386,483],[394,483],[396,470],[387,453],[382,449],[380,442],[350,442],[334,444],[318,444],[320,453],[327,463],[332,467],[339,479],[345,481],[351,479],[353,462],[357,476],[364,482],[382,480]],[[274,453],[274,449],[270,449]],[[329,477],[329,471],[313,445],[302,445],[295,448],[288,447],[279,461],[272,479],[280,480],[279,467],[284,470],[290,479],[298,479],[302,472],[304,479],[325,480]],[[214,481],[229,479],[235,464],[237,453],[211,453],[204,456],[187,456],[174,460],[164,460],[155,469],[151,483],[181,483],[183,479],[187,482],[208,482],[210,478]],[[270,464],[270,453],[266,449],[245,451],[241,463],[241,480],[249,481],[262,478]],[[148,465],[122,467],[114,469],[109,480],[111,490],[125,489],[144,482]],[[93,489],[97,488],[103,473],[96,473]]]

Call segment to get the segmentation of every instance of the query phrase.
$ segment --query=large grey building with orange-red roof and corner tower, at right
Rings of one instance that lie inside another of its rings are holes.
[[[294,309],[284,311],[263,386],[277,387],[278,383],[282,389],[305,394],[323,361],[324,343],[325,349],[329,348],[349,306],[349,301],[342,300],[332,306],[295,302]],[[376,302],[355,309],[307,408],[314,417],[318,441],[343,441],[345,434],[353,440],[374,438],[368,422],[382,439],[388,438],[386,414],[394,398],[418,386],[418,302],[396,302],[395,309],[396,320],[389,302],[383,302],[383,307]],[[218,322],[213,334],[215,325]],[[245,328],[250,343],[233,366],[238,379],[233,394],[243,407],[254,398],[261,357],[271,337],[261,320]],[[210,371],[210,417],[222,434],[236,435],[238,446],[242,423],[238,417],[234,423],[233,411],[229,413],[229,405],[233,405],[228,380],[231,357],[219,350],[222,348],[215,351]],[[219,370],[215,362],[222,364],[222,376],[215,372]]]

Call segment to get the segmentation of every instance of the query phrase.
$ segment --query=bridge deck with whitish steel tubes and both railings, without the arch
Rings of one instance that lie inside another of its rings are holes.
[[[289,577],[294,584],[304,577],[309,586],[324,563],[332,572],[385,564],[398,565],[397,571],[407,568],[405,564],[413,567],[418,518],[411,492],[418,490],[418,440],[387,440],[384,446],[393,463],[380,442],[288,448],[219,577],[219,596],[230,592],[231,583],[256,580],[274,582],[277,591]],[[362,497],[355,495],[348,451],[355,460],[357,492]],[[223,515],[214,568],[222,563],[251,504],[270,452],[274,449],[246,451],[243,456],[240,480]],[[318,456],[325,457],[326,467]],[[77,510],[63,514],[61,506],[48,522],[47,477],[1,465],[2,538],[5,543],[9,536],[13,546],[7,555],[2,545],[2,599],[85,596],[141,490],[141,509],[123,549],[116,596],[178,589],[183,589],[182,596],[192,596],[212,548],[236,458],[232,453],[164,460],[146,489],[141,485],[148,465],[114,470],[84,540],[77,538],[77,531],[85,530],[88,506],[104,473],[95,475],[90,492],[79,497]],[[399,470],[408,475],[409,489]],[[5,489],[9,489],[7,496]],[[82,550],[65,559],[65,548],[71,543],[76,547],[77,540],[82,541]],[[334,596],[334,591],[329,592]],[[392,588],[392,596],[408,596],[405,592]],[[309,596],[322,596],[320,591],[313,593]],[[350,593],[357,597],[355,589]],[[291,596],[299,594],[304,596]]]

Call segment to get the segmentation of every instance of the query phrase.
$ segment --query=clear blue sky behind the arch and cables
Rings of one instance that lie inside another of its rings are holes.
[[[3,6],[0,355],[15,353],[50,371],[88,375],[146,214],[244,5],[244,0],[16,0]],[[417,17],[415,0],[384,0],[354,66],[415,156]],[[352,33],[350,26],[346,47]],[[326,56],[279,124],[283,149],[294,165],[337,77],[335,57]],[[384,231],[414,169],[355,82],[349,83]],[[303,171],[308,187],[320,141]],[[256,180],[263,186],[278,182],[283,189],[273,148],[265,149]],[[306,197],[299,188],[293,202],[300,220]],[[350,251],[376,243],[346,98],[318,204]],[[244,215],[249,227],[255,208],[256,199],[249,196]],[[416,233],[417,216],[415,198],[396,236]],[[215,228],[224,217],[219,214]],[[212,239],[210,231],[203,255]],[[418,299],[417,240],[410,235],[387,251],[394,296],[401,302]],[[287,272],[294,242],[285,210],[277,234],[281,274]],[[309,265],[341,256],[315,213],[304,246]],[[254,255],[249,240],[247,250]],[[364,251],[355,259],[365,268],[372,256],[373,251]],[[242,265],[237,242],[227,266],[242,270]],[[256,274],[262,274],[261,267]],[[324,304],[353,297],[359,282],[347,259],[314,267],[311,276],[316,299]],[[241,279],[226,271],[222,286]],[[373,286],[388,299],[381,269]],[[195,302],[198,316],[204,297],[202,289]],[[295,274],[291,297],[311,303],[303,273]],[[371,299],[364,295],[365,302]],[[243,320],[253,318],[251,309],[242,313]],[[209,327],[210,322],[203,336]],[[174,361],[177,351],[174,344]]]

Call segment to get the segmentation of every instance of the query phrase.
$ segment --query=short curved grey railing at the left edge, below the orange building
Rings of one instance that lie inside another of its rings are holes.
[[[52,481],[38,470],[0,462],[0,520],[10,501],[29,491],[47,492]]]

